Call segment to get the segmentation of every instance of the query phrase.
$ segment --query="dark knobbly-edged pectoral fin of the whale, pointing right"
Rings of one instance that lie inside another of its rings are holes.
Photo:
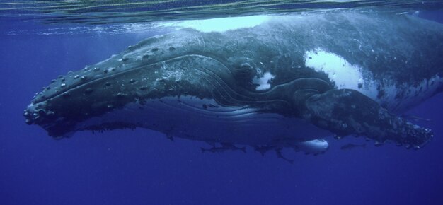
[[[312,95],[305,102],[304,118],[338,135],[357,134],[420,148],[430,141],[432,132],[389,113],[377,102],[357,90],[339,89]]]

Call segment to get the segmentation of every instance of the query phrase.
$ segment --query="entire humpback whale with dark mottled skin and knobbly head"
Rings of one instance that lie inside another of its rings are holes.
[[[442,53],[442,25],[406,15],[332,12],[224,32],[182,28],[59,76],[24,115],[57,138],[144,127],[279,153],[324,151],[318,138],[331,134],[420,148],[432,132],[398,114],[441,90]]]

